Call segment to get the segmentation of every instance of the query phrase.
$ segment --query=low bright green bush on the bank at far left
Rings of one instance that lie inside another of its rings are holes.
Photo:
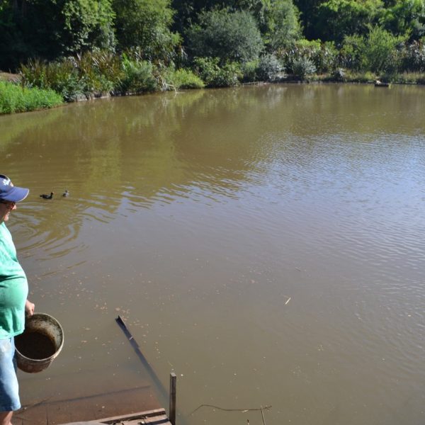
[[[62,96],[53,90],[28,89],[0,81],[0,114],[52,108],[62,103],[64,103]]]

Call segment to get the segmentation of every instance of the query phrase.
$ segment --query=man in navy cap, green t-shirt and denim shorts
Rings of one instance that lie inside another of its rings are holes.
[[[34,314],[34,305],[27,300],[26,274],[16,259],[16,248],[6,227],[16,203],[28,193],[28,189],[13,186],[11,179],[0,174],[0,425],[11,425],[13,411],[21,408],[13,337],[22,334],[25,315]]]

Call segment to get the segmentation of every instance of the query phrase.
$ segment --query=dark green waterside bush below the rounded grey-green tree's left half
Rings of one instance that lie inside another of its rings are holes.
[[[228,62],[220,67],[218,57],[197,57],[194,64],[196,73],[208,87],[236,86],[242,78],[239,64]]]

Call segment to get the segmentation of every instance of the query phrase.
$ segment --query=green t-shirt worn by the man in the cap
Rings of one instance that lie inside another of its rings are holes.
[[[0,225],[0,339],[22,334],[25,302],[28,296],[26,274],[16,258],[11,232]]]

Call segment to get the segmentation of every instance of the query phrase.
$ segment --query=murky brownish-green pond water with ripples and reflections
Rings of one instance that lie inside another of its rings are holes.
[[[137,385],[120,314],[188,424],[424,423],[424,110],[335,84],[1,116],[31,190],[9,228],[66,334],[23,402]]]

